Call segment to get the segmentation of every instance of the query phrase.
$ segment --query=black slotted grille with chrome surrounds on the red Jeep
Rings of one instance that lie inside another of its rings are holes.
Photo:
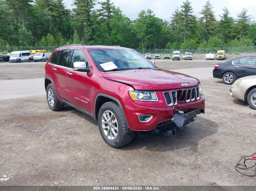
[[[164,92],[163,94],[168,106],[177,105],[178,103],[183,103],[184,101],[190,102],[199,100],[200,98],[198,87]]]

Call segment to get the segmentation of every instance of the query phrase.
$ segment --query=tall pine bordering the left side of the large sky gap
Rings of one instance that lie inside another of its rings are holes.
[[[110,36],[110,19],[113,15],[113,4],[110,0],[106,0],[104,2],[98,2],[101,5],[101,9],[97,9],[99,17],[102,19],[103,22],[107,24],[108,27],[108,38]]]

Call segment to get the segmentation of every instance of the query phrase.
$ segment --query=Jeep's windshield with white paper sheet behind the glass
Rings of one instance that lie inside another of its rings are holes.
[[[132,70],[143,68],[156,68],[150,61],[145,59],[134,50],[124,49],[89,49],[93,62],[100,71]],[[104,69],[103,64],[110,64],[111,67]]]

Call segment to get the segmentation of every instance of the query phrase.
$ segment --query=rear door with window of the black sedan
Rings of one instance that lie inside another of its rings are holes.
[[[256,57],[245,57],[232,61],[232,66],[237,78],[255,75]]]

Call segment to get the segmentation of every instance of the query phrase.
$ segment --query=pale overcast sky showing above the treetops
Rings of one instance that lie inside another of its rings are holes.
[[[104,0],[98,0],[104,1]],[[138,13],[141,10],[150,9],[154,11],[156,17],[163,20],[170,21],[170,16],[172,15],[174,9],[182,5],[184,0],[111,0],[116,7],[120,7],[123,13],[129,17],[131,20],[135,20]],[[67,8],[72,9],[74,6],[73,0],[63,1]],[[194,13],[198,18],[201,17],[199,12],[202,6],[205,4],[206,0],[190,0],[191,5],[194,9]],[[222,14],[222,8],[226,6],[230,12],[230,16],[236,18],[237,13],[241,11],[242,8],[248,10],[248,14],[251,14],[256,20],[256,0],[210,0],[211,4],[214,6],[214,12],[219,20],[218,14]],[[95,6],[99,8],[98,5]]]

